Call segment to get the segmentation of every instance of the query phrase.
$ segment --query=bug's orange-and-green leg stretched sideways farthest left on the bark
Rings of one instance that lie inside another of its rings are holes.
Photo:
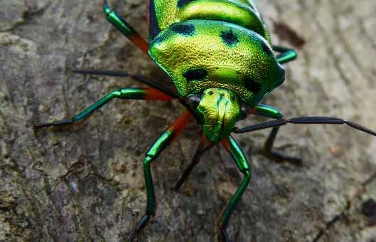
[[[108,93],[100,100],[97,100],[93,105],[87,107],[87,109],[83,110],[79,114],[75,115],[74,117],[68,120],[59,120],[56,122],[42,122],[34,125],[34,128],[39,129],[42,127],[65,127],[67,125],[75,125],[80,124],[87,120],[92,113],[105,105],[107,102],[114,98],[121,98],[121,99],[135,99],[135,100],[172,100],[170,96],[156,90],[154,88],[119,88],[118,90],[114,90],[111,93]]]

